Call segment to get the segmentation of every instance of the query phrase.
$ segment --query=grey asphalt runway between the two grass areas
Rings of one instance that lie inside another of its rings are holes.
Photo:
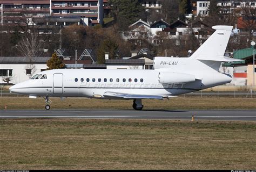
[[[166,119],[256,121],[256,110],[0,110],[0,118]]]

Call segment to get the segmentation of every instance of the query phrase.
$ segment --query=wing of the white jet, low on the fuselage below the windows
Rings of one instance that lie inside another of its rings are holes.
[[[105,92],[104,97],[109,98],[124,98],[124,99],[163,99],[176,96],[164,96],[164,95],[137,95],[137,94],[125,94],[120,92]]]

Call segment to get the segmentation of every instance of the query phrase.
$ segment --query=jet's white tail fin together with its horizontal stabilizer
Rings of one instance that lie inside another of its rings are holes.
[[[233,26],[213,26],[212,28],[216,31],[190,58],[197,59],[217,71],[221,62],[241,61],[224,56]]]

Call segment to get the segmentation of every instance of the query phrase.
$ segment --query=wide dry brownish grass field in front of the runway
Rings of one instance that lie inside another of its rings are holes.
[[[256,123],[0,119],[0,169],[255,169]]]

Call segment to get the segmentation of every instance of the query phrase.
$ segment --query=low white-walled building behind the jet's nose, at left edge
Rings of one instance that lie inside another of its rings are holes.
[[[16,84],[29,80],[47,68],[49,57],[35,57],[32,60],[26,57],[0,57],[0,84],[6,83],[3,78],[10,77],[9,83]],[[31,61],[31,63],[30,63]]]

